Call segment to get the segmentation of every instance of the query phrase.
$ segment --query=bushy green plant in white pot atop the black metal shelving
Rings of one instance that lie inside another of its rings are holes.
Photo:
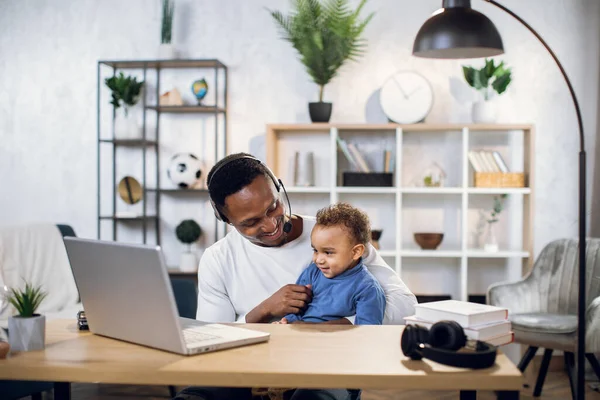
[[[104,80],[111,90],[111,101],[115,109],[115,138],[137,139],[142,137],[140,125],[134,116],[130,116],[132,107],[137,104],[142,93],[144,81],[138,82],[134,76],[125,76],[123,72]]]

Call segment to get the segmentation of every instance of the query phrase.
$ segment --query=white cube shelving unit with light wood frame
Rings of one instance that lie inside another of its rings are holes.
[[[373,228],[383,229],[379,253],[413,292],[468,300],[494,282],[518,279],[531,265],[533,135],[531,125],[268,125],[266,161],[286,184],[295,213],[314,215],[338,201],[362,208]],[[392,150],[394,186],[342,186],[341,173],[350,168],[338,137],[355,143],[375,172],[382,171],[383,150]],[[467,158],[473,149],[499,151],[511,171],[525,173],[526,187],[473,187]],[[315,186],[293,185],[296,151],[313,152]],[[444,187],[416,184],[433,162],[446,172]],[[509,196],[497,223],[500,250],[490,253],[478,242],[480,212],[501,194]],[[427,231],[444,233],[437,250],[421,250],[414,242],[412,233]]]

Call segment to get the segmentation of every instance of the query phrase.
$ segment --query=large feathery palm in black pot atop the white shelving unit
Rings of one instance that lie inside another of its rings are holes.
[[[295,0],[293,11],[284,16],[279,11],[271,15],[281,29],[282,38],[298,51],[300,61],[312,80],[319,85],[319,101],[308,105],[313,122],[328,122],[332,104],[323,102],[323,92],[347,60],[355,61],[365,49],[361,34],[373,17],[371,13],[360,21],[358,15],[365,5],[361,0],[352,10],[347,0]]]

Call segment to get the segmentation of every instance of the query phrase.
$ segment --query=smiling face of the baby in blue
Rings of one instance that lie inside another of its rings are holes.
[[[313,262],[326,278],[346,271],[360,255],[355,256],[348,232],[339,226],[315,225],[311,233]]]

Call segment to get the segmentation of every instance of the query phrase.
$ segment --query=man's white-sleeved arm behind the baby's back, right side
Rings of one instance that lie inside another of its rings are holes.
[[[414,315],[417,298],[402,282],[398,274],[381,258],[369,244],[364,265],[379,282],[386,298],[384,325],[404,325],[404,317]]]

